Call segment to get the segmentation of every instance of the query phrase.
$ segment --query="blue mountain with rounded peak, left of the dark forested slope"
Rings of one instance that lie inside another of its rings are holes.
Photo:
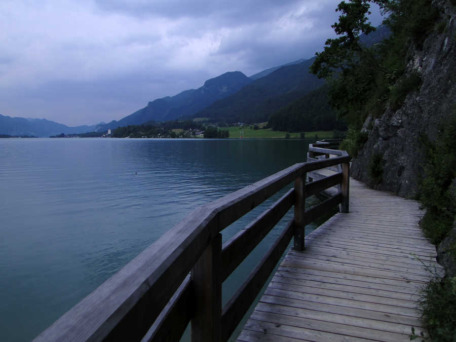
[[[174,96],[151,101],[131,115],[111,121],[99,127],[100,130],[119,126],[140,125],[148,121],[168,121],[194,115],[214,101],[232,95],[252,80],[240,71],[229,71],[207,80],[198,89],[185,90]]]

